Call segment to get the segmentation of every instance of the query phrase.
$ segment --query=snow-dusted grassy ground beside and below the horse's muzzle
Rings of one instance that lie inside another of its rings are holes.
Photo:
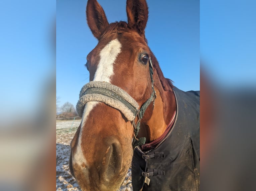
[[[70,142],[81,120],[56,120],[56,190],[81,191],[69,171]],[[132,191],[131,168],[118,191]]]

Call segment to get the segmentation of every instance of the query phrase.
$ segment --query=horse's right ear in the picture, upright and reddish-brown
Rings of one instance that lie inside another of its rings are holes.
[[[128,25],[135,29],[141,36],[145,34],[148,20],[148,6],[145,0],[127,0],[126,12]]]

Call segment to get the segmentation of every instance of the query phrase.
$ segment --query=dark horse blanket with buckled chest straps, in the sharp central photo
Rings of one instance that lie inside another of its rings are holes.
[[[166,137],[132,159],[132,186],[138,190],[199,190],[200,92],[173,88],[177,113]]]

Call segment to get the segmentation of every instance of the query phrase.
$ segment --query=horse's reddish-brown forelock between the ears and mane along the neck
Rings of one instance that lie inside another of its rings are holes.
[[[120,22],[116,21],[108,25],[108,27],[100,35],[99,40],[107,37],[112,33],[121,34],[123,32],[129,32],[130,30],[133,30],[133,29],[130,28],[128,23],[126,23],[125,21],[120,21]],[[144,36],[144,40],[147,43],[147,39],[145,38],[145,36]],[[173,81],[170,79],[164,78],[162,70],[160,69],[159,63],[151,50],[150,50],[150,55],[151,55],[151,60],[153,62],[153,67],[157,72],[158,78],[161,82],[161,86],[163,87],[164,91],[172,91],[172,88],[174,87],[172,84]],[[156,86],[159,86],[159,85],[156,84]]]

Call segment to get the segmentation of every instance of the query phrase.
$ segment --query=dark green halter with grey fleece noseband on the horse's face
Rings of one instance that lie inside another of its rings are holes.
[[[139,104],[137,101],[135,101],[132,96],[130,96],[127,92],[118,86],[112,85],[108,82],[92,81],[84,85],[79,94],[79,100],[76,106],[79,116],[82,117],[85,104],[89,101],[100,101],[106,103],[107,105],[120,110],[127,118],[127,120],[132,121],[134,128],[134,138],[132,141],[133,148],[144,144],[146,142],[145,137],[141,137],[139,139],[137,138],[140,129],[140,120],[142,119],[144,112],[146,111],[149,104],[156,98],[151,58],[149,58],[149,74],[153,92],[151,96],[146,100],[146,102],[142,104],[140,109],[138,109]],[[136,117],[137,121],[135,122]]]

